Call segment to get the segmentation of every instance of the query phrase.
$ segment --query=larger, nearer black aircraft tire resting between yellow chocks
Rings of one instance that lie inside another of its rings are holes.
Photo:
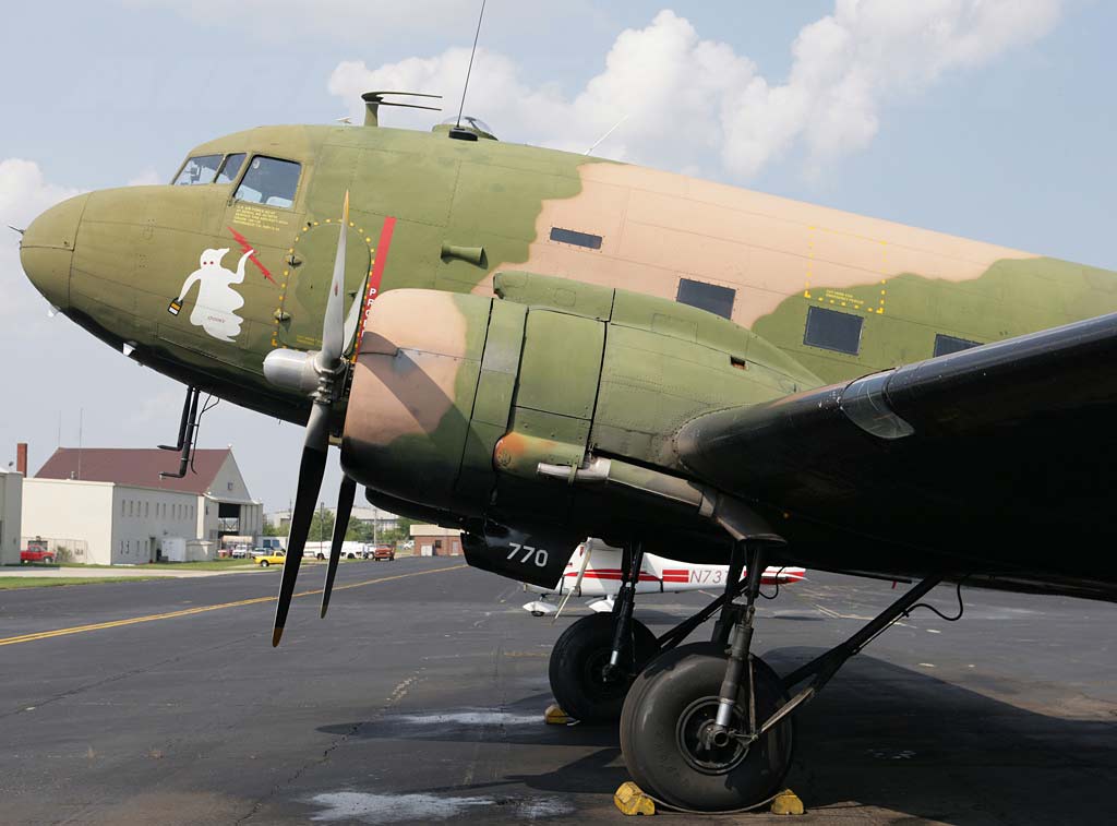
[[[752,657],[756,718],[763,722],[787,700],[780,677]],[[645,791],[684,809],[729,811],[780,790],[791,768],[794,720],[780,721],[751,747],[731,741],[700,748],[697,733],[713,720],[725,677],[724,648],[685,645],[656,657],[637,677],[621,714],[621,753],[632,780]],[[744,680],[747,680],[747,670]],[[747,714],[743,685],[737,706]],[[744,718],[734,720],[745,725]]]

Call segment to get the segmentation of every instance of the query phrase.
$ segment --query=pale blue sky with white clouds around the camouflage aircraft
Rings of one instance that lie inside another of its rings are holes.
[[[218,134],[331,122],[364,83],[455,108],[477,6],[20,3],[0,49],[0,222],[166,180]],[[624,113],[600,154],[1117,269],[1114,31],[1117,4],[1094,0],[489,0],[466,108],[504,140],[582,149]],[[0,236],[4,464],[28,440],[37,469],[59,417],[76,444],[78,410],[86,445],[171,438],[180,388],[48,321],[15,250]],[[201,442],[232,443],[254,494],[286,505],[298,428],[221,405]]]

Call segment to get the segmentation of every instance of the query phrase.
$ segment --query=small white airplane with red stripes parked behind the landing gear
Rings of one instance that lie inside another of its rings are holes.
[[[592,562],[591,562],[592,560]],[[566,563],[566,570],[556,588],[547,589],[524,583],[524,590],[541,595],[527,602],[524,610],[534,617],[556,614],[566,606],[571,597],[596,597],[589,604],[594,611],[611,611],[613,598],[621,587],[621,549],[607,545],[600,539],[588,539],[574,549]],[[718,588],[728,576],[728,566],[696,564],[647,553],[640,567],[637,594],[677,594],[697,591],[703,588]],[[742,571],[744,578],[747,571]],[[763,585],[790,585],[801,581],[805,568],[768,566],[761,575]],[[547,601],[548,597],[563,597],[561,605]]]

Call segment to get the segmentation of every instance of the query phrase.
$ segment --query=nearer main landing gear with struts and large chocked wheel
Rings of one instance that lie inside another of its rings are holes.
[[[792,712],[942,581],[924,579],[848,640],[781,680],[750,651],[764,550],[773,543],[782,540],[737,540],[714,639],[660,654],[624,700],[620,740],[629,772],[646,794],[676,808],[731,811],[771,799],[791,768]],[[747,557],[747,577],[738,583],[742,557]],[[745,601],[735,604],[733,595],[742,586]],[[710,613],[707,608],[696,617]],[[802,691],[789,695],[809,677]]]

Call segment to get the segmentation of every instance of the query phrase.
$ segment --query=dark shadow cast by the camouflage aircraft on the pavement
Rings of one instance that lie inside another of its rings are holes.
[[[822,651],[776,648],[765,658],[787,673]],[[374,740],[596,747],[551,771],[428,791],[524,784],[540,791],[611,795],[628,779],[615,728],[545,727],[540,715],[550,700],[525,696],[498,712],[507,715],[503,721],[452,710],[391,714],[360,724],[355,733],[353,723],[319,731]],[[439,722],[439,715],[446,719]],[[872,807],[960,826],[1117,822],[1117,801],[1107,796],[1117,784],[1117,721],[1038,713],[863,654],[803,710],[795,737],[786,785],[809,808]]]

